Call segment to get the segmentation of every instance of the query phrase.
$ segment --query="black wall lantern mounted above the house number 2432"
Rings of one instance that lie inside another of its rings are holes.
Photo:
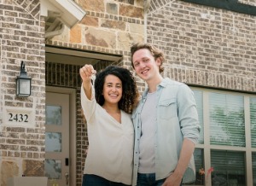
[[[28,97],[31,95],[31,78],[26,75],[23,61],[21,61],[20,64],[20,76],[16,78],[16,95],[20,97]]]

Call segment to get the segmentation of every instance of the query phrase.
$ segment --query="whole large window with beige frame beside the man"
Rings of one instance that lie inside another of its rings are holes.
[[[191,88],[201,125],[194,185],[256,185],[256,96]],[[211,175],[199,170],[213,167]],[[206,179],[207,178],[207,179]]]

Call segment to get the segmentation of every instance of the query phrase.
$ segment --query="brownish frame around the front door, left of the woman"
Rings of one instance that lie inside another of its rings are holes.
[[[77,160],[76,160],[76,153],[77,153],[77,127],[76,127],[76,90],[71,88],[65,87],[57,87],[57,86],[48,86],[46,85],[46,92],[54,92],[54,93],[64,93],[69,95],[69,106],[70,106],[70,119],[69,119],[69,131],[70,131],[70,147],[69,147],[69,185],[76,185],[76,167],[77,167]],[[46,99],[46,97],[45,97]]]

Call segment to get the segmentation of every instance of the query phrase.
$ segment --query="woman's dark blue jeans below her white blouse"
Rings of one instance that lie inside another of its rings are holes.
[[[82,186],[127,186],[124,183],[111,182],[93,174],[84,174]]]

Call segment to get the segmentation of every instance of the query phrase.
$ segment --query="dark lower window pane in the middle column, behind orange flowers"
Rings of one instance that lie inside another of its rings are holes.
[[[246,185],[244,153],[212,150],[211,162],[212,185]]]

